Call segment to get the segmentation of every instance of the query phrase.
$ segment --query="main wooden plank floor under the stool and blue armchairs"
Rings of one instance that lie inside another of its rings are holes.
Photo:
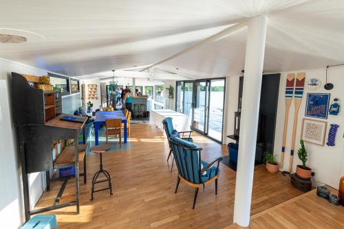
[[[115,143],[114,149],[103,156],[114,195],[103,191],[89,200],[99,155],[87,154],[87,184],[80,179],[80,214],[75,215],[75,206],[50,212],[56,215],[60,228],[224,228],[233,224],[235,171],[220,164],[219,193],[215,195],[215,184],[206,186],[198,193],[193,210],[194,189],[181,182],[178,193],[174,193],[177,169],[170,173],[168,143],[162,131],[149,124],[131,127],[128,143],[122,144],[122,149]],[[228,155],[226,146],[199,134],[193,134],[193,139],[204,149],[202,160],[211,162]],[[36,207],[50,206],[60,185],[53,182],[51,191],[43,194]],[[61,202],[74,200],[74,190],[71,179]],[[264,165],[255,167],[252,215],[300,194],[288,177],[268,173]]]

